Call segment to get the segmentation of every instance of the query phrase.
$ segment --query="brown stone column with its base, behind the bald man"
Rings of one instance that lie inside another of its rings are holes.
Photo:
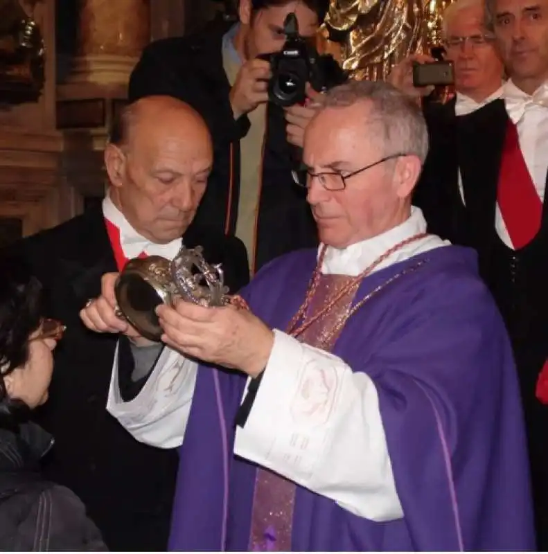
[[[78,0],[76,44],[67,75],[57,86],[56,120],[64,138],[61,168],[71,193],[65,195],[71,199],[69,215],[103,197],[103,149],[112,120],[127,98],[132,69],[150,42],[150,3]]]

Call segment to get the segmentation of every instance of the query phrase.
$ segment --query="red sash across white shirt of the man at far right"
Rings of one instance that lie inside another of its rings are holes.
[[[542,200],[523,159],[518,129],[511,120],[502,150],[497,202],[514,249],[523,248],[540,230]]]

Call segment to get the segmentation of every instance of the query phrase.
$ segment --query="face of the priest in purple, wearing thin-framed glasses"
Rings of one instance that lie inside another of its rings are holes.
[[[303,161],[310,171],[345,176],[391,154],[380,144],[375,126],[366,123],[362,104],[327,108],[306,130]],[[398,159],[373,166],[346,181],[344,190],[326,190],[317,177],[308,178],[308,202],[321,242],[346,248],[398,225],[408,217],[414,182],[403,182]],[[409,177],[412,179],[413,177]]]

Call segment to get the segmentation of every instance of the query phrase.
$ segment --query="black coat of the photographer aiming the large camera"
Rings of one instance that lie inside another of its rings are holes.
[[[130,101],[153,95],[179,98],[206,120],[215,161],[195,224],[235,233],[240,195],[240,138],[249,119],[234,120],[230,84],[222,66],[222,35],[215,27],[195,37],[152,42],[143,51],[129,86]],[[317,245],[317,229],[306,190],[294,184],[292,147],[285,139],[283,109],[269,104],[256,228],[254,269],[276,256]],[[251,253],[250,253],[251,256]]]

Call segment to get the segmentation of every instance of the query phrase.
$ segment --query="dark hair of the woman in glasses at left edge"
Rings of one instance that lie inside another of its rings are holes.
[[[30,408],[10,398],[4,377],[28,361],[28,337],[42,322],[42,285],[26,263],[0,255],[0,427],[26,420]]]

